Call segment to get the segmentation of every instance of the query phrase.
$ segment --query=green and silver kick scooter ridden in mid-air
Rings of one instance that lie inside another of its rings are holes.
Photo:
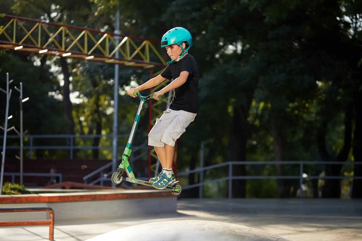
[[[136,183],[136,184],[146,185],[146,186],[152,186],[152,184],[153,184],[152,182],[138,180],[135,178],[135,175],[131,169],[130,163],[128,162],[128,158],[130,157],[131,152],[132,152],[132,150],[131,150],[132,141],[133,141],[133,137],[135,135],[135,132],[136,132],[136,129],[138,126],[138,122],[141,118],[141,112],[142,112],[144,103],[146,102],[146,100],[153,98],[153,94],[150,94],[148,96],[142,96],[139,92],[134,92],[133,95],[137,95],[141,99],[141,102],[139,103],[137,114],[136,114],[132,129],[131,129],[130,137],[127,141],[125,151],[123,152],[123,155],[122,155],[122,162],[119,165],[119,167],[117,168],[117,171],[112,174],[111,181],[116,185],[121,184],[122,178],[123,178],[122,175],[123,175],[123,173],[126,172],[126,174],[127,174],[126,181]],[[159,96],[159,99],[161,99],[161,100],[163,100],[164,98],[165,98],[164,95]],[[172,184],[167,186],[165,189],[170,190],[174,196],[178,196],[181,193],[181,185],[178,183],[178,181],[173,182]]]

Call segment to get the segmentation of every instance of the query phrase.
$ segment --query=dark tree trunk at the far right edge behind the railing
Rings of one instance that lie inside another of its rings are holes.
[[[353,157],[362,162],[362,94],[357,91],[354,96],[355,127],[353,134]],[[354,176],[362,177],[362,164],[354,165]],[[362,198],[362,179],[353,179],[351,198]]]

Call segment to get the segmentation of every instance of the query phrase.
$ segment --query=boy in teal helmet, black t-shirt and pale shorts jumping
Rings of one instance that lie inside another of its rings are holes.
[[[170,106],[156,119],[148,134],[148,145],[155,147],[162,165],[160,174],[150,179],[156,189],[164,189],[176,181],[172,171],[175,142],[199,112],[199,72],[194,57],[188,54],[191,46],[192,37],[187,29],[175,27],[167,31],[161,39],[161,47],[166,48],[171,61],[167,62],[161,74],[127,91],[130,96],[136,97],[133,95],[135,91],[152,88],[165,79],[173,79],[169,85],[153,94],[153,99],[159,100],[159,95],[173,90]]]

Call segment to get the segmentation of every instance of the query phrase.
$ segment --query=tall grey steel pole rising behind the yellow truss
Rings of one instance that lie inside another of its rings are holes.
[[[117,3],[117,12],[115,14],[115,30],[114,30],[115,34],[121,34],[121,31],[119,31],[119,1]],[[119,44],[119,36],[114,36],[115,39],[115,45],[116,47]],[[119,57],[119,51],[117,50],[115,52],[115,58],[118,59]],[[117,169],[117,149],[118,149],[118,145],[117,145],[117,129],[118,129],[118,64],[114,65],[114,103],[113,103],[113,108],[114,108],[114,112],[113,112],[113,142],[112,142],[112,172],[115,172]],[[112,186],[115,187],[115,184],[112,183]]]

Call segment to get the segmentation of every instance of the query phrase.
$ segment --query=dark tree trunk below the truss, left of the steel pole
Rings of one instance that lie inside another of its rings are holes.
[[[73,120],[73,116],[72,116],[72,102],[70,100],[70,89],[69,89],[71,74],[68,69],[67,60],[64,57],[60,57],[60,65],[62,66],[62,72],[63,72],[63,76],[64,76],[63,104],[64,104],[64,112],[65,112],[66,118],[68,120],[67,134],[74,135],[74,120]],[[70,145],[69,140],[68,140],[68,145]],[[73,143],[73,145],[74,145],[74,143]],[[74,158],[76,155],[76,151],[70,150],[70,152],[71,151],[73,151],[72,156]],[[71,153],[69,153],[69,154],[71,154]]]

